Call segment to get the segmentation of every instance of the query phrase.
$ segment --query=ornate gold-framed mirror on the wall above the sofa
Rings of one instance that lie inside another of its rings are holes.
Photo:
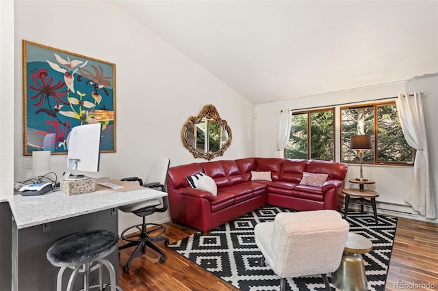
[[[205,105],[198,116],[190,116],[181,131],[183,146],[195,158],[208,161],[215,156],[222,156],[232,138],[231,128],[226,120],[220,119],[214,105]]]

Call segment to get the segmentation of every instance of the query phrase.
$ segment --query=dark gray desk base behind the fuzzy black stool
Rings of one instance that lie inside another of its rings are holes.
[[[47,250],[65,236],[84,230],[112,230],[118,233],[118,210],[112,208],[79,217],[72,217],[51,223],[19,229],[12,222],[12,289],[13,291],[56,290],[58,268],[52,266],[46,258]],[[108,260],[118,273],[118,251],[114,251]],[[96,272],[94,272],[96,273]],[[70,275],[66,271],[64,278]],[[97,275],[91,274],[90,285],[98,282]],[[103,272],[105,282],[110,276]],[[117,276],[116,276],[117,278]],[[63,288],[66,288],[64,279]],[[75,288],[83,288],[83,280],[77,277]]]

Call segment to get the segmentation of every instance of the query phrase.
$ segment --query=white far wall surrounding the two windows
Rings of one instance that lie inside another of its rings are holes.
[[[279,109],[303,109],[313,107],[331,107],[333,105],[348,102],[367,102],[378,98],[389,98],[398,94],[426,92],[423,97],[424,114],[426,115],[426,130],[428,132],[428,146],[430,152],[430,164],[433,170],[433,180],[435,183],[435,195],[438,188],[438,132],[437,132],[437,112],[438,112],[438,77],[437,74],[430,77],[416,77],[409,81],[391,83],[385,85],[375,85],[351,89],[342,92],[333,92],[305,98],[294,98],[281,102],[272,102],[264,105],[255,106],[257,119],[255,122],[255,144],[256,156],[274,156],[276,133],[273,128],[276,126],[276,111]],[[335,117],[336,134],[336,161],[339,161],[339,106],[336,107]],[[348,165],[346,181],[350,178],[359,176],[359,165]],[[410,208],[400,205],[404,203],[404,196],[411,185],[413,179],[413,167],[383,166],[383,165],[363,165],[363,176],[376,181],[370,185],[369,189],[380,193],[378,202],[383,209],[396,211],[411,211]],[[357,187],[357,185],[346,183],[346,187]],[[392,205],[397,204],[397,205]],[[438,208],[438,201],[437,201]],[[421,219],[420,217],[416,217]]]

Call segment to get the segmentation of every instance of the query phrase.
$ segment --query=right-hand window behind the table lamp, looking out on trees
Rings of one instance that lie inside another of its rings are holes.
[[[363,163],[413,164],[414,151],[404,139],[395,102],[341,107],[341,161],[359,162],[350,150],[352,135],[372,135],[374,148],[363,152]]]

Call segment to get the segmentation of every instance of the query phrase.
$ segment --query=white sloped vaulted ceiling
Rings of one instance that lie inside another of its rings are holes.
[[[261,104],[438,72],[437,1],[116,1]]]

